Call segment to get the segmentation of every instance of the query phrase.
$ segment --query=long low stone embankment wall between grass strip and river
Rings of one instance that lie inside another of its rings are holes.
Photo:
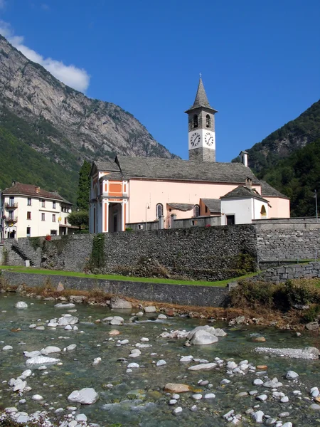
[[[194,285],[168,285],[166,283],[124,282],[94,278],[75,278],[63,275],[41,275],[14,273],[2,270],[1,276],[10,285],[42,286],[46,280],[54,286],[63,283],[65,289],[100,289],[112,295],[132,297],[142,301],[168,302],[178,305],[198,305],[203,307],[223,307],[228,299],[228,288]]]

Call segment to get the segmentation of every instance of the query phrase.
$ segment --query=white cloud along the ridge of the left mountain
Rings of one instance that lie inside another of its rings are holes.
[[[0,6],[1,1],[3,0],[0,0]],[[65,85],[71,86],[71,88],[80,90],[81,92],[87,90],[90,83],[90,75],[83,68],[77,68],[75,65],[65,65],[63,62],[52,58],[43,58],[39,53],[24,45],[23,36],[15,36],[10,24],[4,21],[0,21],[0,34],[6,37],[24,56],[35,63],[41,64],[49,73],[65,83]]]

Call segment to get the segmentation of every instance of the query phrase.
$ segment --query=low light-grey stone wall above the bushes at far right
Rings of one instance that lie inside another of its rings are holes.
[[[249,280],[257,282],[284,283],[288,279],[320,278],[320,263],[284,265],[270,268]]]

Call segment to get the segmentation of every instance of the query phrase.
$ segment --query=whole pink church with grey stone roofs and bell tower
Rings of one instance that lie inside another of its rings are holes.
[[[215,162],[215,110],[200,78],[188,115],[189,159],[117,155],[92,163],[90,233],[224,226],[289,218],[289,199],[247,166]]]

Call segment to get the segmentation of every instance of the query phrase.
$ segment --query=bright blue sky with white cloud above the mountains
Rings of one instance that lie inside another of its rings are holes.
[[[0,0],[0,33],[23,53],[183,159],[202,73],[218,162],[319,100],[319,21],[319,0]]]

